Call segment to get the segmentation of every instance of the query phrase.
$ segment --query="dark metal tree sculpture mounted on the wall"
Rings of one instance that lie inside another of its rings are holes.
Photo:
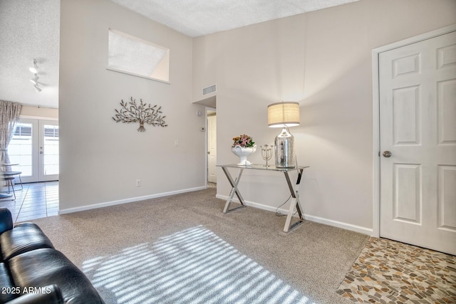
[[[161,106],[157,108],[157,105],[154,105],[152,107],[150,104],[147,105],[147,103],[143,103],[142,99],[140,99],[138,105],[133,97],[126,103],[122,100],[120,105],[122,106],[120,110],[115,109],[115,112],[117,113],[113,116],[115,122],[139,122],[140,127],[137,129],[138,132],[145,132],[145,123],[154,127],[167,127],[165,120],[163,120],[166,116],[161,115]]]

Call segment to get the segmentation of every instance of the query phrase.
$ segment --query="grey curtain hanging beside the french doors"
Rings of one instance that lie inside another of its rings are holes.
[[[0,162],[9,164],[8,145],[19,120],[22,105],[0,100]],[[5,167],[11,171],[11,167]]]

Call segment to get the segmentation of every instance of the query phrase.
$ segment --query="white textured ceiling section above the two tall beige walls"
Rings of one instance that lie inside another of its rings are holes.
[[[111,0],[190,37],[358,0]]]

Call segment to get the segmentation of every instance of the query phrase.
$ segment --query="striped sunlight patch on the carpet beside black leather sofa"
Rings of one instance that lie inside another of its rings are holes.
[[[197,226],[83,263],[118,303],[306,303],[309,298]]]

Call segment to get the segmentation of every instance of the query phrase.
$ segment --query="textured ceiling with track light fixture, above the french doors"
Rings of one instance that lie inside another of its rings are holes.
[[[60,0],[0,0],[0,100],[58,108],[59,24]]]

